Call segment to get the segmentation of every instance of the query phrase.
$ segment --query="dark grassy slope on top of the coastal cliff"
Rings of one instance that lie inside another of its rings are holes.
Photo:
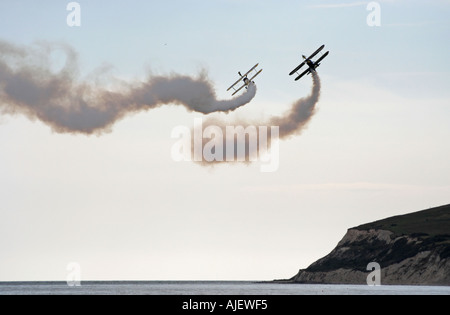
[[[388,230],[395,235],[450,235],[450,205],[390,217],[360,225],[357,230]]]

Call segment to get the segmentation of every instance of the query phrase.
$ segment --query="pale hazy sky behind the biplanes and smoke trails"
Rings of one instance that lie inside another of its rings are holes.
[[[219,99],[259,62],[230,121],[306,96],[311,78],[288,73],[325,44],[318,111],[273,173],[175,162],[172,130],[204,117],[184,107],[101,136],[0,114],[0,281],[65,280],[70,262],[83,280],[288,278],[348,228],[450,202],[450,1],[377,1],[379,27],[369,1],[78,1],[80,27],[69,2],[1,1],[0,40],[68,44],[78,80],[109,87],[206,71]],[[64,55],[51,58],[58,71]]]

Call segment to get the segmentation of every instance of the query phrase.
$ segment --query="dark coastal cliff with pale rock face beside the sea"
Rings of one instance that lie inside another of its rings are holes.
[[[371,262],[381,267],[381,284],[450,285],[450,205],[351,228],[330,254],[288,281],[366,284]]]

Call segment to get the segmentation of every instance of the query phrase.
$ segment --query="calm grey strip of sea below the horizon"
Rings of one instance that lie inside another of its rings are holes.
[[[0,295],[450,295],[450,287],[304,285],[255,282],[0,283]]]

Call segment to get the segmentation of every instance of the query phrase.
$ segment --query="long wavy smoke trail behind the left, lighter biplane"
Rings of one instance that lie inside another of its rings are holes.
[[[62,50],[64,67],[54,73],[49,57]],[[39,119],[59,133],[101,134],[124,116],[164,104],[178,104],[204,114],[229,112],[256,95],[251,86],[231,100],[217,100],[205,73],[151,76],[147,81],[108,90],[78,82],[75,51],[64,44],[38,43],[20,47],[0,41],[0,113]]]

